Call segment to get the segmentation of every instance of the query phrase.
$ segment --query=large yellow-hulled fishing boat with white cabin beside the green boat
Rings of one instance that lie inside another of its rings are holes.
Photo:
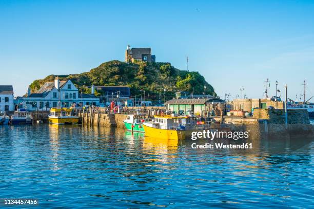
[[[230,130],[228,127],[215,127],[210,121],[199,121],[197,117],[176,114],[154,116],[154,120],[144,122],[143,127],[147,137],[172,140],[190,137],[194,131]]]

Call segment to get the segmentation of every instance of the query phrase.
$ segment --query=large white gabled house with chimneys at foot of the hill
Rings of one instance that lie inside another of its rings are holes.
[[[59,89],[59,90],[58,90]],[[83,98],[82,98],[83,97]],[[60,98],[60,99],[59,99]],[[60,105],[58,103],[60,102]],[[37,93],[28,91],[27,97],[18,99],[20,108],[27,110],[49,110],[51,107],[71,107],[72,104],[77,106],[94,105],[99,106],[100,99],[92,94],[82,94],[70,81],[46,82]]]

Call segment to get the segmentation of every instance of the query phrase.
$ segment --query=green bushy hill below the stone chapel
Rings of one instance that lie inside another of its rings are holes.
[[[36,92],[47,81],[53,81],[56,75],[49,75],[45,79],[35,80],[31,85],[31,91]],[[88,86],[129,86],[131,94],[141,94],[145,90],[149,99],[156,100],[159,93],[166,89],[167,98],[174,97],[176,91],[202,94],[206,85],[206,94],[213,92],[213,87],[208,84],[199,72],[187,72],[171,66],[170,63],[126,63],[117,60],[105,62],[100,66],[81,74],[58,75],[60,80],[70,79],[78,89],[90,93]],[[97,91],[96,95],[103,92]]]

